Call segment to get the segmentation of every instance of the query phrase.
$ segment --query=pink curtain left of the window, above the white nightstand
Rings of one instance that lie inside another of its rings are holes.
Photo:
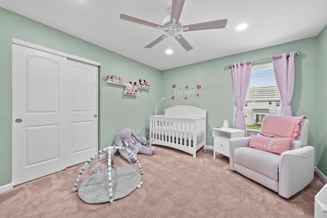
[[[252,61],[232,65],[234,96],[235,96],[235,122],[234,128],[245,130],[244,136],[247,136],[246,123],[244,117],[244,106],[247,100],[247,94],[250,87]]]

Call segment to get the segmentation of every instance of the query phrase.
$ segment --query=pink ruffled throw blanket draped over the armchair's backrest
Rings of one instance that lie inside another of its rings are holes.
[[[265,116],[262,123],[262,135],[269,137],[293,138],[300,137],[302,119],[306,116]]]

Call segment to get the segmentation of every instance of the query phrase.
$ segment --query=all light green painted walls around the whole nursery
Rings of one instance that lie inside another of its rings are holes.
[[[292,100],[294,116],[306,115],[310,119],[308,143],[315,147],[316,166],[327,175],[327,88],[326,69],[323,63],[327,54],[327,28],[317,36],[265,49],[227,56],[197,64],[159,71],[99,46],[83,41],[61,31],[42,25],[26,17],[0,8],[0,158],[5,164],[0,167],[0,186],[11,183],[11,63],[12,38],[35,43],[50,49],[101,63],[99,83],[99,146],[100,149],[113,143],[116,132],[123,128],[139,130],[148,138],[149,115],[154,114],[154,105],[167,96],[159,105],[159,112],[173,105],[192,105],[207,110],[207,135],[209,146],[213,145],[212,129],[222,126],[223,120],[233,126],[233,91],[231,69],[225,65],[244,60],[261,60],[274,55],[301,52],[295,57],[295,86]],[[126,81],[146,79],[150,90],[139,90],[137,97],[123,95],[123,87],[108,85],[103,77],[122,76]],[[172,100],[172,86],[180,91],[196,90]],[[197,89],[197,85],[201,89]],[[185,89],[189,86],[189,89]],[[199,94],[197,96],[196,94]],[[319,101],[317,100],[319,99]]]

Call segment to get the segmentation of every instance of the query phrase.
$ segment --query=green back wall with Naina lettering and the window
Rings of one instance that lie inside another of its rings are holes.
[[[214,127],[221,127],[223,120],[227,119],[229,127],[233,127],[233,85],[231,69],[224,69],[225,65],[244,60],[261,60],[275,55],[301,52],[295,56],[295,85],[292,100],[294,116],[306,115],[310,119],[310,132],[308,143],[316,146],[317,126],[317,46],[316,37],[293,41],[285,44],[267,47],[265,49],[231,55],[223,58],[209,60],[193,65],[183,66],[162,72],[162,94],[171,96],[172,84],[178,87],[202,86],[199,93],[202,98],[192,97],[188,100],[179,99],[164,102],[163,107],[186,104],[198,106],[207,110],[207,136],[206,143],[213,145],[212,132]],[[250,134],[250,132],[249,132]]]

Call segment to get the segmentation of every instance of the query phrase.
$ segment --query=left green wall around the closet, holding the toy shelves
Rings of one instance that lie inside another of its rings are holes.
[[[113,144],[115,134],[124,128],[139,130],[141,135],[147,136],[149,114],[154,113],[154,104],[161,98],[160,70],[0,8],[0,159],[3,162],[0,186],[11,183],[12,38],[101,63],[100,149]],[[123,86],[106,84],[103,77],[107,75],[122,76],[133,82],[146,79],[150,81],[151,89],[139,90],[139,96],[126,96]]]

